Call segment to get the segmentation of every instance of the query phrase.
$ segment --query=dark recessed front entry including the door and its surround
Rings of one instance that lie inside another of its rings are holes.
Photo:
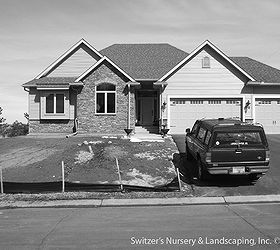
[[[158,119],[157,91],[139,91],[136,98],[137,125],[156,125]]]

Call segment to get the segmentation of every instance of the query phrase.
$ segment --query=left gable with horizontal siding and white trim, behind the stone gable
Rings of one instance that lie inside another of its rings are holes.
[[[84,39],[81,39],[48,68],[41,72],[36,79],[50,77],[78,77],[102,55]]]

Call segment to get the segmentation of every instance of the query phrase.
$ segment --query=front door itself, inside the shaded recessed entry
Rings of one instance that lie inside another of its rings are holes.
[[[141,98],[141,125],[151,126],[154,121],[154,97],[142,97]]]

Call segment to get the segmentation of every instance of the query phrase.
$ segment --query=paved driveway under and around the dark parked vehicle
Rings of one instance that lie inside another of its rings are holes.
[[[267,135],[271,152],[270,169],[268,173],[256,182],[250,182],[244,176],[214,176],[207,181],[196,178],[196,162],[188,161],[185,156],[185,135],[172,136],[179,150],[175,155],[183,182],[191,185],[197,196],[224,195],[259,195],[280,194],[280,135]]]

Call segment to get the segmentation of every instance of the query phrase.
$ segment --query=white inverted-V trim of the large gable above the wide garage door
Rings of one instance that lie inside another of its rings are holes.
[[[235,62],[233,62],[229,57],[227,57],[221,50],[219,50],[216,46],[214,46],[210,41],[206,40],[201,45],[199,45],[195,50],[193,50],[187,57],[185,57],[180,63],[178,63],[174,68],[172,68],[169,72],[167,72],[164,76],[162,76],[159,79],[159,81],[167,80],[171,75],[176,73],[182,66],[188,63],[193,57],[195,57],[200,51],[202,51],[207,46],[210,47],[218,55],[220,55],[232,67],[237,69],[242,75],[246,76],[249,80],[251,81],[255,80],[251,75],[249,75],[242,68],[240,68]]]

